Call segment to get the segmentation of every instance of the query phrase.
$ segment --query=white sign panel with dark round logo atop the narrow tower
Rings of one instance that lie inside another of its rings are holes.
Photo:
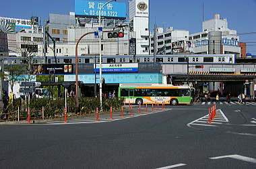
[[[135,6],[135,16],[148,17],[149,7],[148,0],[137,0]]]

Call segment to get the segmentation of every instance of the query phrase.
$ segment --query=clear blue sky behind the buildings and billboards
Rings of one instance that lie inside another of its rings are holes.
[[[117,2],[125,2],[128,7],[128,0]],[[68,14],[74,11],[74,4],[74,0],[5,0],[1,1],[0,16],[26,19],[34,15],[47,19],[49,13]],[[150,29],[156,21],[159,27],[172,26],[178,30],[189,30],[190,34],[201,32],[202,4],[205,20],[219,13],[220,17],[228,19],[228,27],[237,30],[238,34],[256,32],[256,0],[150,0]],[[256,34],[242,34],[240,38],[241,42],[247,42],[247,52],[256,54]]]

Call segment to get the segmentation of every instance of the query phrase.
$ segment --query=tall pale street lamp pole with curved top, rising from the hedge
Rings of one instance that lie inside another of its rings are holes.
[[[107,1],[106,3],[104,3],[101,7],[100,10],[98,12],[98,19],[99,19],[99,25],[101,26],[101,9],[108,3],[112,2],[112,1],[117,1],[117,0],[110,0]],[[100,50],[100,111],[102,111],[102,62],[101,62],[101,37],[100,37],[100,46],[99,46],[99,50]]]

